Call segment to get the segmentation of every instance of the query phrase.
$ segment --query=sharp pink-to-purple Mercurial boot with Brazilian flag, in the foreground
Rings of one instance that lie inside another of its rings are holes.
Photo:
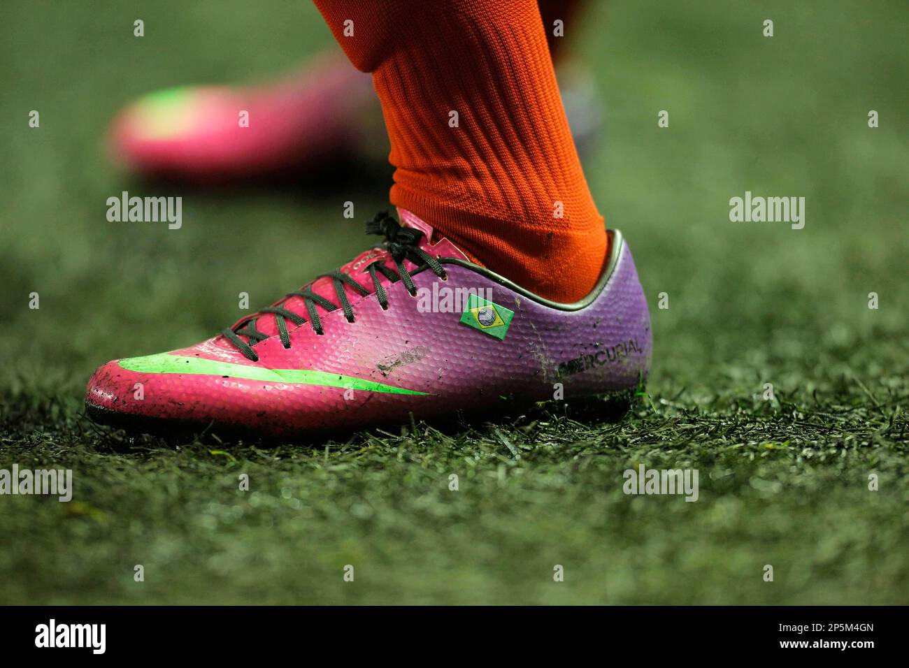
[[[650,315],[618,231],[593,291],[556,304],[474,264],[414,214],[385,242],[201,344],[114,360],[88,383],[95,422],[305,437],[640,387]]]

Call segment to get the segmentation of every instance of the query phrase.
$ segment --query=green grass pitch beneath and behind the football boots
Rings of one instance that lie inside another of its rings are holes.
[[[344,262],[390,170],[152,189],[102,137],[156,87],[292,68],[333,45],[320,16],[3,4],[0,469],[71,468],[75,494],[0,496],[0,603],[909,603],[907,6],[591,5],[566,26],[604,101],[584,166],[651,304],[648,395],[266,448],[96,428],[85,381]],[[184,196],[183,227],[108,223],[123,190]],[[804,196],[804,229],[731,223],[745,191]],[[625,495],[639,464],[698,469],[698,501]]]

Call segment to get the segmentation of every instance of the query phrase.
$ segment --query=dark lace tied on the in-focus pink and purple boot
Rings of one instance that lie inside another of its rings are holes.
[[[350,274],[345,274],[340,269],[335,269],[334,272],[328,274],[319,274],[310,284],[315,284],[315,281],[324,277],[332,279],[335,284],[335,294],[338,295],[338,301],[341,302],[340,308],[344,309],[345,318],[347,318],[348,323],[354,322],[354,308],[347,299],[347,293],[344,287],[345,284],[353,288],[355,293],[362,296],[375,292],[376,296],[379,298],[379,305],[382,306],[382,310],[385,311],[388,309],[388,295],[385,294],[385,288],[379,281],[378,274],[384,275],[385,278],[392,283],[403,281],[407,288],[407,292],[410,293],[412,297],[416,296],[416,286],[411,273],[407,271],[407,268],[404,265],[405,260],[410,260],[418,265],[415,269],[415,273],[428,267],[443,281],[446,279],[445,269],[442,268],[442,264],[439,264],[439,261],[435,259],[435,257],[426,253],[418,246],[420,239],[423,238],[423,232],[421,230],[416,230],[413,227],[402,227],[401,224],[388,215],[388,212],[383,211],[379,214],[375,214],[375,217],[366,223],[366,234],[382,234],[385,236],[385,250],[388,251],[395,260],[395,266],[397,267],[396,272],[394,269],[385,266],[385,257],[377,257],[372,263],[367,264],[365,267],[366,271],[373,278],[373,285],[375,287],[375,290],[373,291],[370,291],[368,287],[364,287],[357,283]],[[285,294],[285,297],[303,298],[304,304],[306,305],[306,312],[309,315],[309,323],[312,325],[313,330],[315,330],[315,334],[325,334],[325,331],[322,328],[322,320],[315,310],[316,305],[321,306],[327,312],[336,311],[339,308],[325,299],[321,294],[314,293],[308,287],[305,290],[287,293]],[[287,334],[286,321],[289,320],[297,326],[306,322],[305,318],[295,314],[293,311],[288,311],[284,306],[279,305],[269,306],[257,311],[255,314],[251,314],[249,317],[244,318],[236,324],[237,329],[231,327],[225,328],[221,333],[225,339],[231,344],[234,344],[237,350],[253,362],[259,361],[259,356],[255,354],[253,346],[269,337],[269,334],[260,332],[255,327],[255,321],[265,314],[273,314],[275,316],[278,335],[281,337],[281,343],[284,344],[285,348],[290,348],[290,335]],[[247,337],[249,343],[247,344],[241,339],[241,336]]]

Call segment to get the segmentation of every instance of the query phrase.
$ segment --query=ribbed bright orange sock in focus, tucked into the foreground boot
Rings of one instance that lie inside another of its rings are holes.
[[[396,168],[392,204],[536,294],[589,293],[608,240],[535,0],[315,5],[351,62],[373,74]]]

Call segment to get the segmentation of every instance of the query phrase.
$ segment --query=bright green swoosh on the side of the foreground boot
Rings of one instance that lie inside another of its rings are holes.
[[[150,354],[145,355],[145,357],[129,357],[125,360],[120,360],[119,364],[126,371],[135,371],[139,374],[226,375],[253,381],[267,381],[269,383],[325,385],[327,387],[343,387],[351,390],[385,392],[388,394],[429,394],[417,392],[416,390],[407,390],[404,387],[375,383],[374,381],[367,381],[352,375],[329,374],[325,371],[310,371],[308,369],[266,369],[262,366],[218,362],[204,357],[184,357],[166,353]]]

